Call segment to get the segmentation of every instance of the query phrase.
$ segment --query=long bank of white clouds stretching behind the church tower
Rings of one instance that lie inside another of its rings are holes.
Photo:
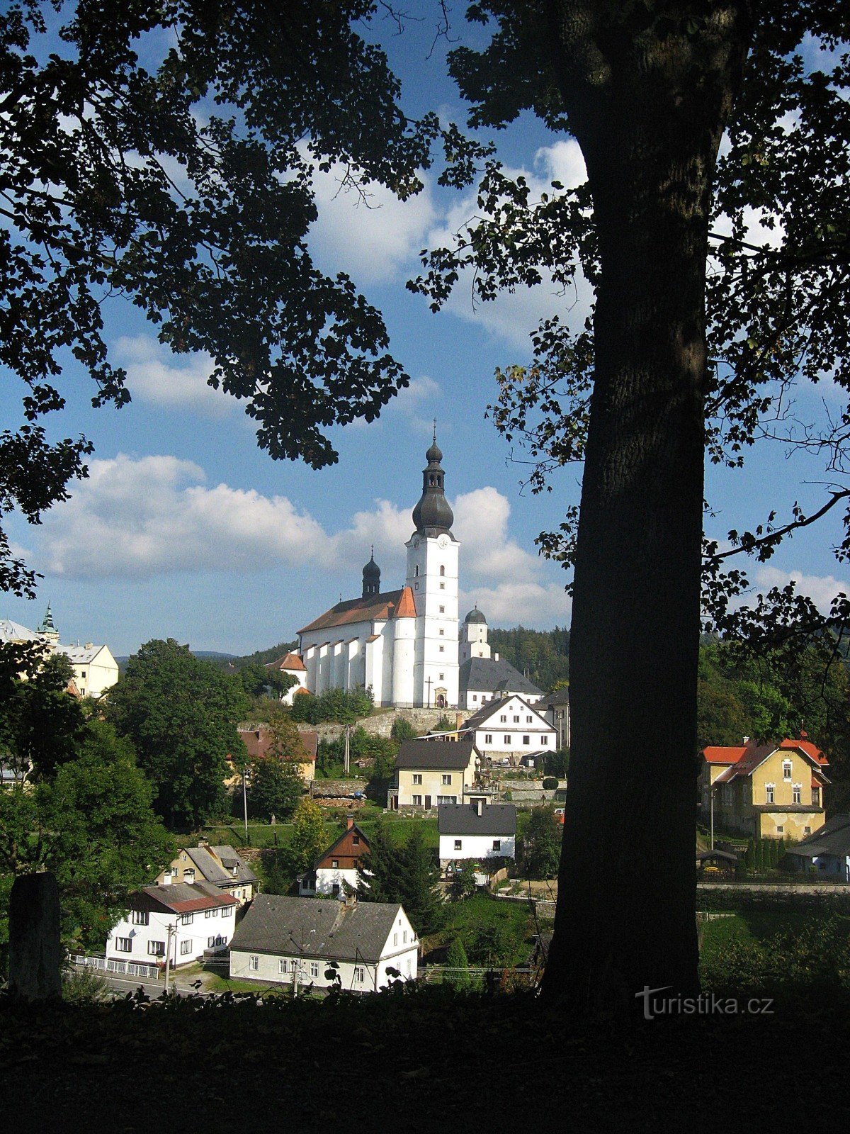
[[[511,539],[510,505],[486,486],[453,501],[453,531],[461,542],[461,578],[467,592],[481,595],[508,617],[509,595],[518,606],[515,620],[536,613],[546,620],[560,586],[541,579],[541,561]],[[413,533],[413,505],[376,500],[337,532],[328,532],[286,497],[266,497],[228,484],[210,485],[204,471],[171,456],[138,459],[119,454],[93,460],[88,480],[70,500],[57,505],[34,533],[41,570],[74,578],[150,578],[181,572],[264,570],[278,565],[345,576],[350,590],[374,545],[383,586],[399,586],[405,572],[405,542]],[[482,590],[474,587],[481,584]],[[337,584],[329,584],[335,592]],[[560,606],[559,606],[560,603]]]

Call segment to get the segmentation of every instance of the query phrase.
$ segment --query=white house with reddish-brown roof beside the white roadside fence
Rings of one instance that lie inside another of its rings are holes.
[[[107,959],[164,965],[170,949],[173,968],[230,943],[238,903],[209,883],[175,882],[145,886],[127,905],[107,938]]]

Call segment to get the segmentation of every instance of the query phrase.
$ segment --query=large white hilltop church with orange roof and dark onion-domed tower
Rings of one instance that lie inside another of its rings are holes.
[[[422,497],[414,508],[407,577],[398,591],[381,591],[374,555],[363,568],[363,594],[338,602],[298,631],[311,693],[371,688],[376,705],[398,709],[478,709],[498,696],[536,701],[541,689],[499,654],[491,657],[487,625],[476,608],[458,635],[458,555],[445,499],[443,455],[425,454]]]

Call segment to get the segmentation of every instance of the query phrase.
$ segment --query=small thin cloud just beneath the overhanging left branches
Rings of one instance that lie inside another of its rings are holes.
[[[229,393],[207,386],[213,362],[206,354],[178,356],[147,335],[121,336],[116,352],[127,371],[127,386],[134,398],[167,409],[199,411],[213,417],[223,416],[237,405]]]

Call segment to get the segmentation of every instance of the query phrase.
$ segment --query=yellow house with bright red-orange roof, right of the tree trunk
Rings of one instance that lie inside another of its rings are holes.
[[[702,807],[714,822],[754,838],[804,839],[825,821],[828,761],[806,738],[709,746],[703,752]]]

